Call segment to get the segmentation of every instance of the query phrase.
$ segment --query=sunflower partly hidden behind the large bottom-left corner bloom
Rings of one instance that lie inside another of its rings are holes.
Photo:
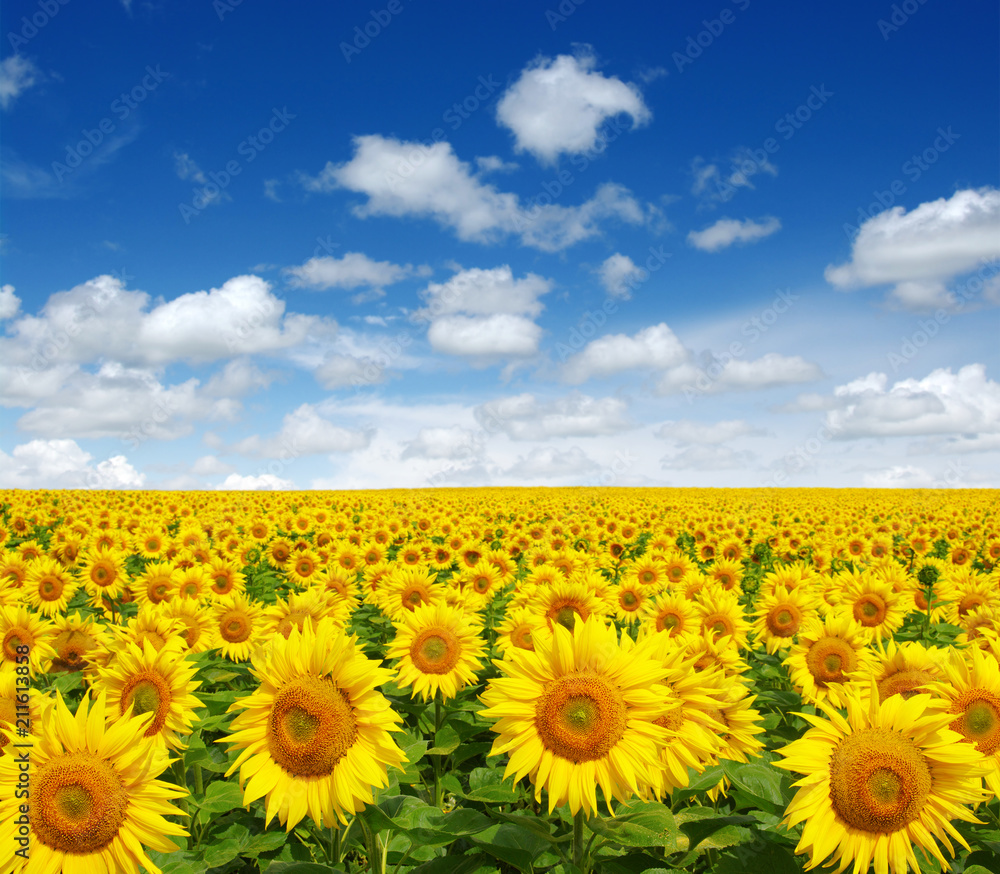
[[[196,666],[185,658],[185,646],[171,640],[157,650],[149,641],[118,650],[110,667],[98,671],[95,689],[106,691],[108,704],[119,713],[132,707],[135,713],[152,713],[143,737],[162,740],[168,747],[183,747],[180,735],[189,735],[194,708],[202,703],[191,693],[201,683],[192,679]]]

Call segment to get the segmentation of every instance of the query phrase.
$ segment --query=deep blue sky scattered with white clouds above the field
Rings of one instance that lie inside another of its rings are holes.
[[[0,487],[1000,488],[998,33],[10,0]]]

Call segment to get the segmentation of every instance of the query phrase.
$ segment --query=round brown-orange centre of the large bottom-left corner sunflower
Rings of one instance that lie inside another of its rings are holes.
[[[31,780],[31,828],[53,850],[87,855],[118,835],[128,795],[111,765],[78,751],[50,759]]]

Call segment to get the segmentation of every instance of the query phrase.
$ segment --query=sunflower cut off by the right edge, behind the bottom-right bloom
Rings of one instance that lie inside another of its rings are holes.
[[[944,674],[934,692],[948,701],[951,728],[985,757],[986,785],[1000,795],[1000,663],[977,647],[952,650]]]

